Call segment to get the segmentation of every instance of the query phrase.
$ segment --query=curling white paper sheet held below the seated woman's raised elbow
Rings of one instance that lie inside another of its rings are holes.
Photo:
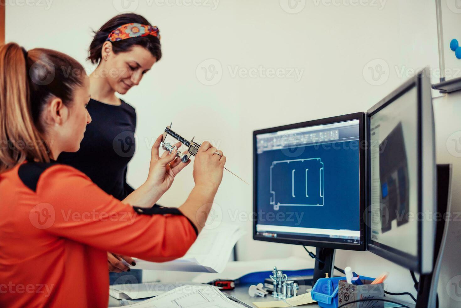
[[[244,234],[237,225],[220,223],[214,229],[203,229],[183,258],[163,263],[135,259],[136,269],[219,273],[225,269],[232,248]]]

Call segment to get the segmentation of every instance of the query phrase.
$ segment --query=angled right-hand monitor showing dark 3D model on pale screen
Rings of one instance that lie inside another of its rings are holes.
[[[368,110],[368,250],[432,271],[436,162],[431,84],[419,72]]]

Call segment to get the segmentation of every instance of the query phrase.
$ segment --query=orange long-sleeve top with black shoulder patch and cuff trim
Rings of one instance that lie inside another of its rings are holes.
[[[0,174],[0,196],[0,307],[106,308],[107,251],[163,262],[197,236],[188,218],[143,215],[65,165],[22,163]]]

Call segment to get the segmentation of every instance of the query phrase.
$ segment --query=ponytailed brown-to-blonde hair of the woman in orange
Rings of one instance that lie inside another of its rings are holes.
[[[37,65],[41,71],[32,67]],[[74,86],[82,85],[80,78],[59,72],[66,68],[83,71],[76,60],[54,50],[36,48],[27,53],[16,43],[0,47],[0,173],[26,158],[50,161],[40,122],[42,107],[50,96],[70,103]],[[43,70],[53,71],[53,80],[35,82]]]

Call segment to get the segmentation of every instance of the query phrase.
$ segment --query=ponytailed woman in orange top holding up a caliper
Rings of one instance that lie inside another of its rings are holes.
[[[159,156],[161,135],[147,180],[122,201],[57,163],[61,152],[79,149],[89,99],[89,78],[70,56],[0,47],[0,307],[106,308],[107,251],[176,259],[210,211],[225,157],[207,142],[179,208],[151,208],[187,165],[177,151]]]

